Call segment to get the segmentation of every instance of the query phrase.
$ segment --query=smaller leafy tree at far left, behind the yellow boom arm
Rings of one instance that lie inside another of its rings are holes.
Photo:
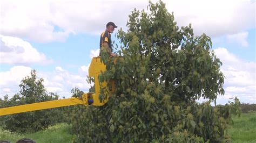
[[[8,95],[1,100],[2,108],[58,99],[57,94],[46,92],[43,85],[43,78],[37,80],[36,70],[31,70],[30,76],[26,76],[19,84],[21,90],[18,94],[8,99]],[[63,109],[48,109],[18,113],[1,117],[2,126],[6,130],[16,132],[36,132],[49,125],[64,120]]]

